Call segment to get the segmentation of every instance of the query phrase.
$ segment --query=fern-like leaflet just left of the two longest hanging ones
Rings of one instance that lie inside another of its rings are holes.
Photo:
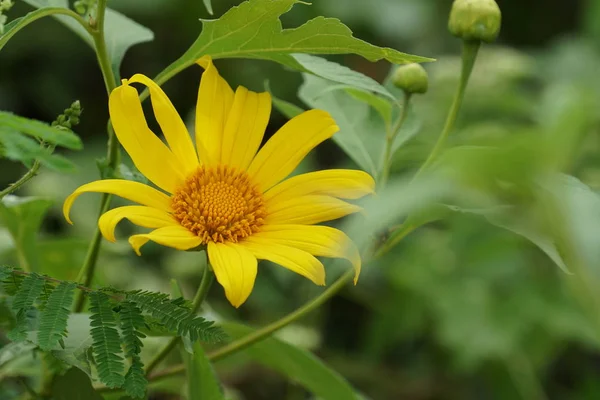
[[[76,286],[61,282],[48,296],[38,330],[38,345],[42,350],[52,350],[67,335],[67,320]]]

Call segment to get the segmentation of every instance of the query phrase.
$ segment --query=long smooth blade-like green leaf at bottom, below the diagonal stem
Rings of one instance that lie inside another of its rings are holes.
[[[223,329],[234,339],[244,337],[253,329],[226,322]],[[245,350],[254,361],[297,381],[323,400],[361,399],[352,386],[337,372],[327,367],[312,353],[276,338],[267,338]]]

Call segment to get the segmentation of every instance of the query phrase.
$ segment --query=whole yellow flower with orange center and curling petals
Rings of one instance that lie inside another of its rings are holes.
[[[288,121],[259,150],[271,113],[269,93],[238,87],[235,93],[209,57],[196,108],[196,147],[181,117],[161,88],[144,75],[123,80],[110,95],[110,117],[117,138],[135,166],[162,191],[142,183],[106,179],[75,190],[64,203],[69,211],[86,192],[111,193],[141,205],[118,207],[98,221],[102,235],[115,241],[124,218],[154,230],[133,235],[140,254],[149,240],[179,250],[205,245],[227,299],[239,307],[250,295],[257,259],[280,264],[325,285],[325,269],[315,256],[348,259],[355,283],[361,260],[341,231],[315,225],[357,212],[341,199],[372,193],[370,175],[355,170],[325,170],[284,180],[319,143],[339,130],[325,111],[310,110]],[[150,90],[164,144],[148,128],[138,92]],[[283,182],[282,182],[283,181]]]

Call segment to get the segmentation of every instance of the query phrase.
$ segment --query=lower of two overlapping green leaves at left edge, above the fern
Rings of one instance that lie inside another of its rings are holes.
[[[59,172],[74,172],[75,165],[59,154],[52,151],[39,142],[24,136],[17,131],[0,130],[0,147],[3,148],[3,157],[18,161],[26,167],[31,168],[33,162],[38,160],[40,164]]]

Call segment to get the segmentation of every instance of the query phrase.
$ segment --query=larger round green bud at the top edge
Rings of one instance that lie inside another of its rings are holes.
[[[501,23],[502,13],[495,0],[454,0],[448,29],[463,40],[493,42]]]

